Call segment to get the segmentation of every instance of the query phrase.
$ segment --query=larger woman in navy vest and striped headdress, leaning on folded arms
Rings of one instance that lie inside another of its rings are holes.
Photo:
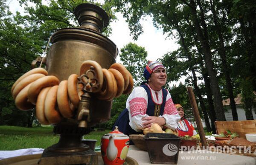
[[[160,62],[148,61],[143,75],[146,82],[134,88],[126,101],[125,110],[113,126],[118,126],[119,131],[127,135],[139,134],[142,128],[153,123],[177,129],[180,116],[170,93],[162,88],[167,78],[165,67]]]

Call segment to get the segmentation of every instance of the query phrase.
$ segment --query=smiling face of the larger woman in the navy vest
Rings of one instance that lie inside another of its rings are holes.
[[[163,68],[156,69],[152,72],[151,77],[148,79],[148,83],[153,85],[155,89],[160,90],[166,84],[166,71]]]

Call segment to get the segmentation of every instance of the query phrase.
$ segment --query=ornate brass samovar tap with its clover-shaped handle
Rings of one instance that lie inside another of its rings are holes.
[[[96,72],[94,67],[90,67],[85,74],[78,77],[79,84],[83,84],[84,94],[81,96],[81,100],[78,104],[78,110],[76,115],[76,120],[78,122],[78,127],[88,127],[88,122],[90,122],[90,93],[92,89],[99,87],[99,81],[96,78]]]

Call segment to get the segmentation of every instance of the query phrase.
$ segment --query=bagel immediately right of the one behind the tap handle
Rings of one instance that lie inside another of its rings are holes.
[[[104,78],[104,86],[102,89],[97,93],[97,98],[100,100],[108,100],[113,96],[114,85],[113,85],[113,77],[112,73],[107,69],[102,69],[103,78]]]

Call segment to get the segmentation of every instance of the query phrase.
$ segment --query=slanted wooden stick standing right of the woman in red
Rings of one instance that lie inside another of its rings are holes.
[[[189,101],[190,101],[190,104],[191,104],[191,107],[192,107],[192,111],[193,111],[193,114],[194,114],[194,117],[195,117],[195,122],[196,122],[196,125],[198,127],[198,132],[199,132],[199,135],[200,135],[202,146],[206,147],[207,142],[206,142],[206,138],[205,138],[205,134],[204,134],[204,128],[203,128],[203,125],[201,123],[201,118],[200,118],[200,115],[199,115],[198,106],[197,106],[197,103],[195,101],[195,95],[194,95],[192,87],[187,87],[187,91],[188,91],[188,94],[189,94]]]

